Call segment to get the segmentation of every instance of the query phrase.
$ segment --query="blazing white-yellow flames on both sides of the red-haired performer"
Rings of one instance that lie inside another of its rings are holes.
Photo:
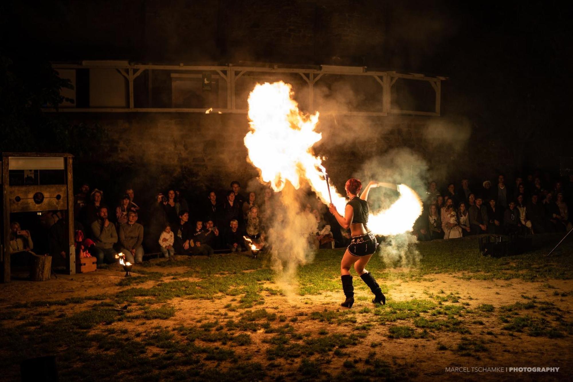
[[[321,201],[328,204],[328,187],[324,180],[322,159],[312,146],[322,135],[315,131],[319,113],[305,115],[292,98],[291,85],[284,82],[257,84],[249,95],[249,124],[245,136],[249,159],[258,167],[261,179],[281,191],[286,181],[300,188],[306,180]],[[377,235],[397,235],[411,231],[422,213],[418,195],[406,185],[399,185],[400,197],[390,208],[371,214],[368,228]],[[331,189],[335,188],[331,185]],[[332,203],[344,211],[346,198],[332,194]]]

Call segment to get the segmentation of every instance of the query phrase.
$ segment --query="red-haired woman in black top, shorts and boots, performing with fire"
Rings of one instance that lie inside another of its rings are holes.
[[[340,263],[340,278],[342,279],[342,289],[346,296],[346,301],[340,305],[344,307],[352,307],[354,303],[354,286],[352,286],[352,276],[350,275],[350,267],[352,267],[352,264],[354,264],[354,269],[360,275],[360,278],[362,278],[366,285],[370,287],[372,293],[374,293],[372,302],[386,303],[386,297],[382,293],[382,289],[380,289],[376,279],[370,272],[364,269],[366,264],[368,264],[368,260],[372,257],[372,254],[376,251],[376,247],[378,247],[376,238],[366,225],[368,223],[369,211],[367,202],[368,192],[370,192],[371,188],[378,186],[398,190],[398,186],[395,184],[372,181],[368,183],[362,194],[360,194],[360,197],[358,197],[360,189],[362,189],[362,183],[360,183],[358,179],[350,178],[344,186],[350,198],[350,201],[348,201],[344,209],[344,216],[336,211],[336,207],[333,204],[330,205],[332,215],[336,217],[336,220],[342,228],[347,229],[350,227],[352,235],[350,245],[348,245],[346,252],[344,252],[342,262]]]

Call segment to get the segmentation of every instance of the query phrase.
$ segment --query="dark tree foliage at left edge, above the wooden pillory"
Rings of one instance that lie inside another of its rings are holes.
[[[0,54],[0,151],[72,153],[85,157],[96,152],[105,138],[97,125],[72,124],[59,112],[65,100],[60,79],[44,60],[13,59]]]

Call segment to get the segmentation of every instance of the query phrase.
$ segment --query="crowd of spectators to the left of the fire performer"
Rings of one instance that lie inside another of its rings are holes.
[[[91,189],[88,184],[80,187],[74,197],[74,231],[76,249],[82,255],[89,253],[97,258],[98,264],[116,263],[120,252],[125,261],[142,263],[146,254],[160,254],[174,259],[175,255],[212,255],[218,252],[243,252],[256,248],[265,250],[265,232],[272,223],[275,198],[268,188],[262,192],[261,200],[256,192],[247,197],[241,194],[237,181],[230,184],[219,202],[217,192],[211,190],[204,200],[187,202],[180,190],[170,189],[156,195],[151,205],[140,208],[135,200],[133,189],[115,204],[108,203],[104,192]],[[144,205],[144,204],[141,204]],[[326,206],[317,202],[308,211],[301,205],[305,216],[303,232],[305,238],[316,248],[332,245],[335,241],[330,232],[331,225],[325,221],[317,208],[326,211]],[[115,213],[114,213],[115,212]],[[46,213],[45,216],[52,216]],[[49,225],[50,254],[55,266],[63,266],[66,247],[66,219],[57,212]],[[143,216],[143,224],[139,223]],[[28,261],[25,254],[33,253],[33,242],[29,231],[22,231],[18,223],[13,224],[11,247],[23,263]],[[17,262],[16,262],[17,263]]]

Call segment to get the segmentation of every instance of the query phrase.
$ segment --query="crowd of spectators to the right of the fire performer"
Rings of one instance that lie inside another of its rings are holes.
[[[515,178],[507,184],[505,176],[496,185],[484,180],[470,187],[468,179],[460,186],[450,183],[440,190],[430,182],[423,198],[424,212],[414,225],[418,240],[454,239],[482,233],[534,235],[566,232],[571,225],[568,203],[573,197],[573,176],[568,188],[563,182],[541,181],[539,174]]]

